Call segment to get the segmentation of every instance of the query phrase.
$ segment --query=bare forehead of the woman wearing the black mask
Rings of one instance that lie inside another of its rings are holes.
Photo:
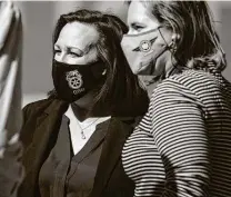
[[[57,45],[78,47],[84,50],[90,45],[96,45],[99,40],[99,32],[93,26],[71,22],[67,23],[60,31]]]

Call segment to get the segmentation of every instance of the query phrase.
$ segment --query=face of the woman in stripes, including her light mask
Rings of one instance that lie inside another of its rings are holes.
[[[140,1],[131,2],[128,24],[129,32],[123,36],[121,47],[133,73],[162,75],[170,57],[171,32]]]

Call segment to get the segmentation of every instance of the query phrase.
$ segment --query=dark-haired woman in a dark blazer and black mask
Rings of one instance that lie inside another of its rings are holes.
[[[123,57],[124,32],[119,18],[99,11],[60,17],[54,90],[23,109],[19,197],[133,196],[121,150],[149,99]]]

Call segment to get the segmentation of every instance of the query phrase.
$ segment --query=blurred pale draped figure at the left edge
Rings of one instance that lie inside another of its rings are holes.
[[[17,196],[22,180],[21,144],[21,41],[19,10],[0,2],[0,197]]]

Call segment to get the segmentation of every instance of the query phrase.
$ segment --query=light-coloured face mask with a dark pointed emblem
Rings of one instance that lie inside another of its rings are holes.
[[[124,35],[121,48],[134,75],[154,75],[157,59],[169,49],[169,46],[153,48],[161,27],[139,35]],[[171,43],[170,43],[171,45]]]

